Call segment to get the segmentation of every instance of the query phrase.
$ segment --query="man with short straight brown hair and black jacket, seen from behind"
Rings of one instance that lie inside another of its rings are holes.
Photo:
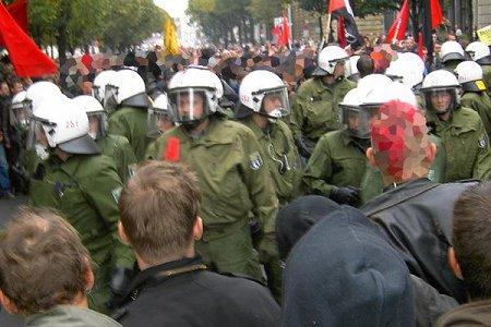
[[[121,192],[119,233],[142,269],[132,281],[124,326],[273,326],[279,307],[255,281],[207,269],[194,250],[203,235],[196,177],[148,161]]]

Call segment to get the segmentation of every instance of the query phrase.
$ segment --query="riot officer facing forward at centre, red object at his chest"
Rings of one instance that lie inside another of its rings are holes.
[[[254,133],[223,117],[219,78],[205,68],[178,72],[169,83],[172,117],[179,126],[161,135],[147,157],[185,162],[196,173],[203,199],[203,240],[197,251],[218,269],[261,279],[249,217],[261,223],[263,262],[277,255],[274,218],[278,199]]]

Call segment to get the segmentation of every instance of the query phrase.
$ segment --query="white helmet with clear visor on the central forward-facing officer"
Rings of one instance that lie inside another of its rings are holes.
[[[176,73],[167,93],[176,122],[190,126],[217,112],[223,95],[224,86],[218,76],[202,66],[190,66]]]

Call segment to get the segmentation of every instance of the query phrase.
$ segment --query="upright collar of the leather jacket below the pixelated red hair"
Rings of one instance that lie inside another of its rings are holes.
[[[428,178],[420,178],[399,185],[400,186],[384,192],[374,199],[370,201],[363,205],[360,210],[364,215],[371,216],[396,206],[411,197],[418,196],[428,190],[439,186],[440,184],[430,181]]]

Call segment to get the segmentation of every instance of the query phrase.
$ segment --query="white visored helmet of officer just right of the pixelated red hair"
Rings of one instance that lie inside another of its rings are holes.
[[[444,114],[457,108],[460,102],[460,84],[457,77],[446,70],[438,70],[429,73],[423,81],[421,92],[424,95],[424,107],[429,111]],[[452,102],[448,108],[433,108],[431,98],[442,94],[450,94]]]

